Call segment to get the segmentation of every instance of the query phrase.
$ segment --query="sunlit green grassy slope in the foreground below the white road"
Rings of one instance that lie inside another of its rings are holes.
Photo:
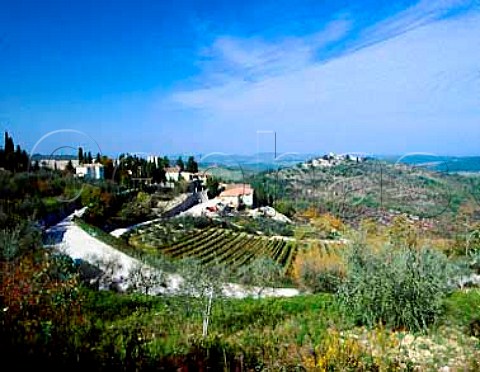
[[[452,353],[459,353],[454,348],[459,345],[464,348],[461,354],[465,354],[465,358],[468,359],[470,355],[471,360],[467,361],[469,365],[473,365],[478,356],[475,354],[478,339],[472,341],[468,338],[471,325],[479,319],[478,291],[455,293],[448,298],[447,311],[441,324],[426,335],[410,335],[401,331],[392,333],[382,329],[368,331],[354,327],[339,311],[332,295],[261,300],[219,299],[213,303],[206,339],[201,337],[204,301],[104,292],[91,292],[89,296],[88,310],[105,325],[103,343],[115,343],[121,330],[139,332],[143,338],[144,360],[164,363],[178,357],[186,360],[200,347],[209,350],[207,354],[220,353],[215,357],[215,363],[220,363],[218,368],[224,362],[224,357],[231,366],[234,355],[242,354],[242,360],[249,368],[303,366],[308,370],[323,360],[333,363],[336,368],[345,364],[356,365],[358,369],[361,365],[368,370],[375,365],[395,365],[394,358],[398,355],[391,353],[403,350],[398,346],[398,340],[403,339],[416,340],[419,346],[415,344],[411,348],[431,347],[437,350],[434,352],[435,360],[416,356],[416,363],[423,367],[447,363]],[[350,332],[353,338],[342,336]],[[367,337],[372,348],[383,350],[385,355],[375,356],[375,351],[368,347],[370,351],[363,350],[358,344],[359,337]],[[450,344],[454,347],[444,350],[443,347]]]

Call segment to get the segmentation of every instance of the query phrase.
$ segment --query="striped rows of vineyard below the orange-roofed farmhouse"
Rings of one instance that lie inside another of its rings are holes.
[[[149,248],[155,246],[155,237],[144,237]],[[155,247],[175,259],[194,258],[204,265],[224,264],[232,269],[248,265],[256,258],[266,256],[290,267],[296,253],[296,244],[290,239],[263,237],[234,232],[222,228],[207,228],[187,233],[173,244]]]

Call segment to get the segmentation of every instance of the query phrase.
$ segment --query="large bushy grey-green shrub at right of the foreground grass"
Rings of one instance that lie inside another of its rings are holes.
[[[456,274],[447,257],[432,249],[387,246],[374,253],[355,246],[338,295],[358,323],[424,330],[443,313]]]

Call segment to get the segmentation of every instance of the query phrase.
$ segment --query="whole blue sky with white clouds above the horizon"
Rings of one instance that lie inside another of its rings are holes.
[[[275,131],[280,153],[478,154],[480,5],[3,0],[0,129],[41,152],[255,153]]]

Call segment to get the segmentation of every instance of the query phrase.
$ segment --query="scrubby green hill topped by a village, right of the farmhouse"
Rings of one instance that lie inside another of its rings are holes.
[[[461,159],[457,164],[471,170],[478,159],[469,159],[470,164]],[[292,167],[266,175],[267,193],[274,193],[276,200],[292,204],[297,211],[314,207],[350,221],[364,217],[388,220],[397,213],[451,221],[462,203],[479,205],[479,177],[435,171],[442,166],[437,157],[413,160],[412,164],[371,159],[332,167]],[[449,160],[449,164],[456,163]],[[431,165],[418,166],[426,163]]]

